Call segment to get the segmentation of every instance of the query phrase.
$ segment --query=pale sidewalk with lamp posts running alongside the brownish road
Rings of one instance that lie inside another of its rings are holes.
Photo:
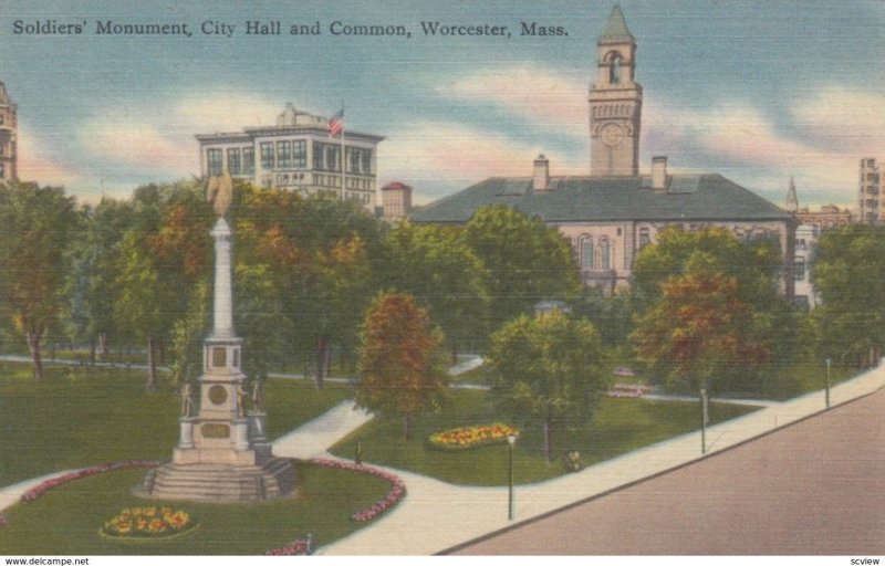
[[[883,386],[885,366],[834,387],[831,400],[835,406]],[[708,453],[733,447],[824,409],[824,394],[819,391],[717,424],[708,429]],[[537,517],[701,458],[700,433],[696,432],[602,462],[580,473],[517,486],[516,518]],[[406,497],[386,516],[322,548],[321,553],[429,555],[511,526],[507,520],[507,488],[464,488],[389,471],[405,481]]]

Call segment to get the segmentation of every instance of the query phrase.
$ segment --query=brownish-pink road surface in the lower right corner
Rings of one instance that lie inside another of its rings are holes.
[[[454,554],[883,555],[885,390]]]

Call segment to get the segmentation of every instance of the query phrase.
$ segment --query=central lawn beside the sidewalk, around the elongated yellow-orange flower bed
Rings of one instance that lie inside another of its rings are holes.
[[[421,418],[414,427],[412,441],[403,439],[402,422],[375,419],[337,443],[333,453],[352,458],[360,442],[368,463],[389,465],[470,485],[507,483],[508,447],[488,446],[465,451],[433,449],[427,438],[441,430],[466,424],[507,422],[494,416],[483,391],[452,391],[454,402],[436,415]],[[710,418],[720,422],[752,411],[733,405],[712,405]],[[514,452],[516,481],[530,483],[564,473],[561,457],[577,450],[585,465],[697,430],[700,426],[696,403],[637,399],[603,399],[593,422],[579,430],[558,431],[553,439],[554,461],[543,455],[540,428],[521,431]],[[700,441],[698,440],[698,443]]]

